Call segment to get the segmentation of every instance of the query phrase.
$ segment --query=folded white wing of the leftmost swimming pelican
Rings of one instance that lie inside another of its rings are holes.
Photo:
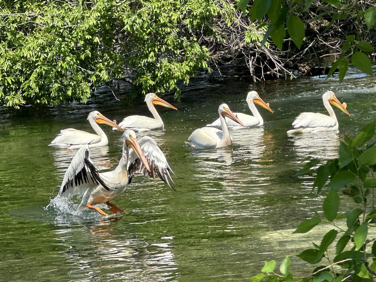
[[[52,140],[51,144],[94,144],[100,142],[101,140],[99,135],[73,128],[63,129],[60,132],[61,133],[59,133],[58,136]]]

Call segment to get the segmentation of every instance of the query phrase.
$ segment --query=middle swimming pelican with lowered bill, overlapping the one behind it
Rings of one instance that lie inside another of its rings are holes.
[[[185,144],[190,145],[192,149],[205,148],[221,148],[232,144],[232,138],[227,128],[225,117],[244,126],[244,124],[237,118],[226,104],[221,104],[218,108],[219,118],[222,125],[222,130],[214,127],[202,127],[194,130],[188,141]]]

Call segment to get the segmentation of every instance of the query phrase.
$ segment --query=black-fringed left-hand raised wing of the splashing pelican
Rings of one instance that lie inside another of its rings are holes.
[[[88,188],[98,185],[102,185],[106,190],[112,190],[106,185],[89,158],[89,146],[85,145],[77,151],[65,171],[59,193],[61,196],[79,195],[78,197],[82,197]]]

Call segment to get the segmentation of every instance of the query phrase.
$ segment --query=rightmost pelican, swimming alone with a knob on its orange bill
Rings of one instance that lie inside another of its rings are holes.
[[[337,130],[338,121],[333,108],[338,109],[350,115],[346,110],[346,103],[342,103],[335,97],[332,91],[323,94],[324,107],[327,109],[329,116],[313,112],[302,112],[293,122],[294,129],[288,130],[287,133],[303,133],[303,132],[320,132],[325,130]]]

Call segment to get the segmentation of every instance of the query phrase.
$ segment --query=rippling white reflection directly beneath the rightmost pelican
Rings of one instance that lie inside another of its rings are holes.
[[[332,159],[338,157],[338,130],[302,133],[290,135],[294,143],[294,152],[300,159],[312,156],[318,159]]]

